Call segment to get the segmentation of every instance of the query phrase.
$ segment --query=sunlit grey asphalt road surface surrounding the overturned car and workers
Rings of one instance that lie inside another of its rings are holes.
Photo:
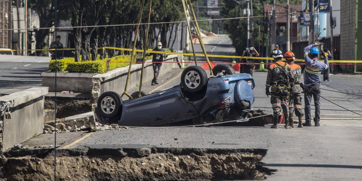
[[[210,40],[213,45],[207,45],[207,51],[211,51],[217,45],[213,42],[218,41],[220,42],[220,39]],[[230,41],[223,43],[230,43]],[[218,47],[219,45],[215,50]],[[220,47],[227,47],[227,45]],[[227,49],[232,51],[230,47]],[[143,90],[150,93],[178,85],[180,72],[182,69],[176,68],[166,76],[160,77],[158,86],[144,83]],[[253,109],[270,113],[270,97],[265,95],[266,72],[255,72],[253,78],[256,82],[254,89],[256,101]],[[360,76],[332,75],[331,80],[331,82],[323,82],[321,88],[361,94]],[[129,92],[136,90],[138,90],[137,87],[129,89]],[[322,96],[337,105],[362,114],[361,96],[326,90],[322,91]],[[265,125],[106,130],[94,132],[70,148],[264,148],[268,152],[262,159],[263,166],[277,170],[267,180],[360,180],[362,177],[360,153],[362,117],[355,116],[356,114],[345,111],[337,105],[321,100],[320,127],[284,129],[282,125],[279,125],[279,129],[270,129],[270,125]],[[37,139],[42,137],[43,135],[38,136]]]

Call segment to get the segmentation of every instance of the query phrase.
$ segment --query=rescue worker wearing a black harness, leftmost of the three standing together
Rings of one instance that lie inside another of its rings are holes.
[[[290,66],[282,61],[283,54],[280,50],[273,52],[274,64],[268,69],[268,77],[266,78],[265,94],[270,98],[273,108],[273,125],[270,128],[278,128],[278,117],[281,115],[281,109],[285,116],[285,128],[290,129],[289,125],[289,96],[290,88],[293,86],[294,79],[290,72]],[[269,88],[271,87],[271,93]]]

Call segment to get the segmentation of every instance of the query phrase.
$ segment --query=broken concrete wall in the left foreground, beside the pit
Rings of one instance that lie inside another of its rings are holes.
[[[43,133],[47,87],[33,87],[0,97],[1,151]]]

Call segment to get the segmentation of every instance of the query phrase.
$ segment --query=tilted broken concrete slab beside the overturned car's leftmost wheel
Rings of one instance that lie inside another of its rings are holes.
[[[90,131],[97,131],[96,127],[96,119],[94,118],[94,112],[88,112],[78,115],[73,115],[70,117],[64,118],[64,124],[69,127],[76,126],[79,129],[87,129],[90,128]]]

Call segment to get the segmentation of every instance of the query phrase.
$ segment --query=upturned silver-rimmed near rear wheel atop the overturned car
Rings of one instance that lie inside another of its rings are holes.
[[[205,70],[198,66],[185,68],[181,74],[181,85],[186,92],[199,92],[207,83],[207,74]]]

